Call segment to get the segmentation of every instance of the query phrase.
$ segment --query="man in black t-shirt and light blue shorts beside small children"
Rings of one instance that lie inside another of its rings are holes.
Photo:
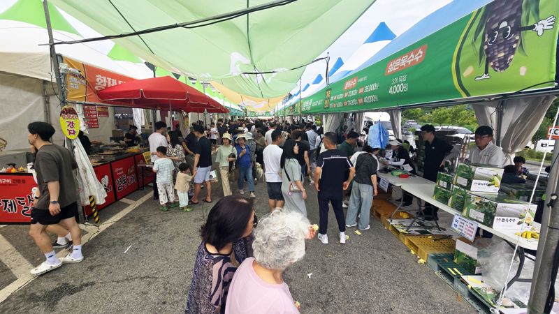
[[[196,147],[194,148],[194,196],[190,201],[191,204],[198,204],[198,195],[202,189],[202,183],[205,184],[208,195],[204,202],[212,202],[212,184],[210,182],[210,171],[212,171],[212,143],[208,137],[204,136],[205,130],[201,125],[194,126],[194,135],[198,138]]]

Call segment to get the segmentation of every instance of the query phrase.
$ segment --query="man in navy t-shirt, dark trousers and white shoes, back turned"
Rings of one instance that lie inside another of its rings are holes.
[[[324,135],[324,147],[326,151],[319,155],[317,170],[314,172],[314,188],[317,189],[319,199],[319,240],[328,244],[328,204],[332,204],[340,229],[340,243],[345,244],[345,216],[342,209],[343,191],[347,190],[355,175],[355,168],[347,159],[347,156],[336,149],[336,135],[328,132]],[[346,170],[349,177],[344,181]]]

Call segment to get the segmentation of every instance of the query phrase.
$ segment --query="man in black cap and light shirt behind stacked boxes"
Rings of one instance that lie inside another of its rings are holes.
[[[468,157],[470,163],[503,166],[504,154],[500,147],[493,144],[493,128],[491,126],[477,128],[474,139],[476,146],[470,149],[470,157]]]

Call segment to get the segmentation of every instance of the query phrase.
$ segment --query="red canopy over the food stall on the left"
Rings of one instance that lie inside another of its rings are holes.
[[[133,80],[97,91],[101,102],[122,107],[228,113],[224,106],[173,77]]]

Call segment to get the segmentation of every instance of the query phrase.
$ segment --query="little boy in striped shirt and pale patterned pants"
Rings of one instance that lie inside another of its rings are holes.
[[[157,147],[157,157],[153,163],[153,172],[157,173],[157,190],[159,192],[159,204],[161,211],[168,211],[167,202],[171,202],[170,207],[177,207],[175,202],[175,191],[173,190],[173,171],[175,165],[173,160],[167,158],[167,147]]]

